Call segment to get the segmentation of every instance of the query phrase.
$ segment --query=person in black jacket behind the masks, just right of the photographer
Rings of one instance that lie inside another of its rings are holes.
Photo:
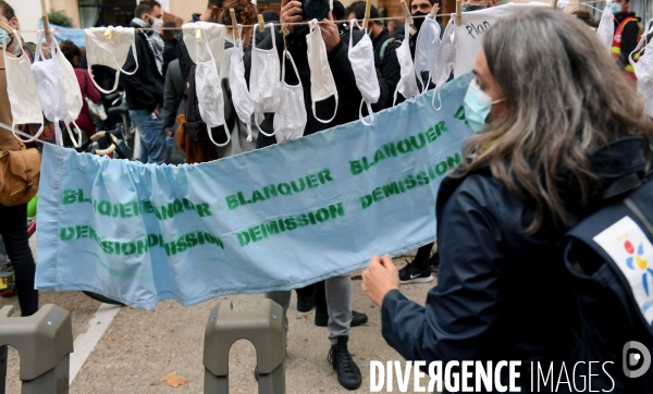
[[[366,1],[353,2],[346,10],[347,21],[357,19],[358,23],[362,25],[365,10]],[[379,11],[374,5],[370,7],[370,19],[379,19]],[[374,66],[381,72],[381,78],[379,78],[381,96],[379,101],[372,104],[372,110],[380,111],[392,107],[397,83],[402,78],[402,67],[396,53],[402,41],[391,36],[381,21],[369,21],[366,27],[374,48]],[[358,28],[358,26],[355,26],[355,28]],[[397,102],[401,101],[402,99],[397,99]],[[367,114],[367,111],[364,111],[364,114]]]

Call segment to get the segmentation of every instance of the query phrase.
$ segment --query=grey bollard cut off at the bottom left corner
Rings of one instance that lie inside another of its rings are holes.
[[[23,394],[69,392],[70,354],[73,352],[71,312],[48,304],[26,318],[11,318],[13,306],[0,309],[0,394],[4,394],[7,346],[21,356]]]

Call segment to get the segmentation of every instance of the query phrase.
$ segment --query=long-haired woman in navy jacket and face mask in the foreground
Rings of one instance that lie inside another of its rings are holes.
[[[517,385],[527,387],[531,361],[568,360],[582,345],[572,337],[563,236],[606,204],[617,180],[643,176],[653,124],[596,35],[554,10],[494,24],[473,72],[466,116],[486,118],[464,148],[469,161],[439,190],[438,285],[422,307],[398,291],[390,256],[374,256],[362,288],[382,307],[383,337],[407,360],[520,360]],[[609,345],[620,354],[624,342]]]

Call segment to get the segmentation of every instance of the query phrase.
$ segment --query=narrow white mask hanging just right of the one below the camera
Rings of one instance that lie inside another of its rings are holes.
[[[356,19],[349,21],[349,32],[354,32],[354,24],[356,23]],[[347,56],[349,58],[349,62],[352,63],[354,76],[356,77],[356,86],[362,96],[360,108],[358,110],[360,122],[366,126],[369,126],[374,122],[372,104],[377,103],[377,101],[379,101],[379,96],[381,96],[381,88],[379,87],[379,79],[377,78],[374,66],[374,47],[372,46],[370,36],[367,34],[362,36],[356,47],[354,47],[353,37],[354,35],[349,34],[349,52]],[[370,123],[366,123],[362,118],[364,102],[367,104],[368,113],[370,114]]]

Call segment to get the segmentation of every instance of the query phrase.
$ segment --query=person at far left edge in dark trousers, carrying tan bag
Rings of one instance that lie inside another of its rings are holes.
[[[7,1],[0,1],[0,21],[9,24],[14,29],[19,29],[16,14]],[[0,29],[0,46],[5,40],[9,41],[7,51],[14,56],[23,56],[21,47],[17,46],[17,40],[13,36],[7,37],[7,32]],[[25,56],[29,56],[29,53],[26,51]],[[7,93],[4,53],[0,53],[0,122],[7,125],[12,124],[11,107]],[[11,131],[0,127],[0,150],[20,150],[24,147],[25,145],[19,141]],[[14,270],[21,316],[32,316],[38,310],[38,292],[34,288],[36,264],[34,263],[27,235],[27,204],[12,207],[0,204],[0,235],[2,235],[7,254]]]

